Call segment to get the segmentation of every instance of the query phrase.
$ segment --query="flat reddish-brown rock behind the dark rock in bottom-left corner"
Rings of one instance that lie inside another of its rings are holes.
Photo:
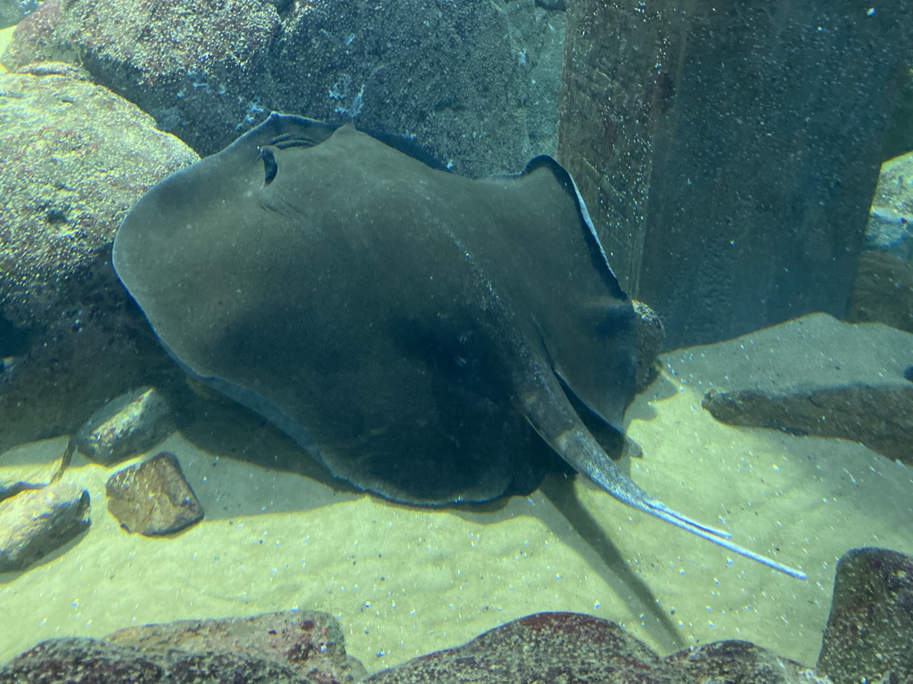
[[[365,674],[358,660],[347,658],[345,637],[339,622],[329,613],[287,611],[254,617],[180,620],[128,627],[105,640],[144,653],[165,654],[179,649],[275,660],[300,677],[320,681],[352,681]]]

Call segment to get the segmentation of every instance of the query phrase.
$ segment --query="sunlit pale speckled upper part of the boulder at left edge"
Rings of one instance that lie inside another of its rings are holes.
[[[196,156],[75,67],[26,67],[0,77],[0,92],[0,308],[13,326],[47,326],[82,294],[133,202]]]

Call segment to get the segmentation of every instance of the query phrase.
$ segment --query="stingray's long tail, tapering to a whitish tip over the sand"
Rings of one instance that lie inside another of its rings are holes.
[[[788,565],[782,565],[767,556],[734,544],[732,535],[709,525],[698,523],[657,501],[619,470],[603,451],[564,395],[560,383],[551,374],[536,374],[520,396],[522,409],[530,425],[578,472],[582,472],[615,499],[632,508],[649,513],[660,520],[679,527],[691,534],[729,549],[762,565],[796,579],[807,575]]]

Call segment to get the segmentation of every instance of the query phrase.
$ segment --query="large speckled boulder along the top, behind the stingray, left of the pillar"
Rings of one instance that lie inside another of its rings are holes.
[[[83,64],[201,154],[276,109],[418,140],[466,175],[517,172],[534,60],[503,5],[48,0],[3,59]]]

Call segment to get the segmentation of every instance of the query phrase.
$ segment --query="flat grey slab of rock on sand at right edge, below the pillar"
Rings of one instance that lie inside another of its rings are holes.
[[[703,406],[717,420],[859,441],[913,463],[913,385],[904,378],[913,336],[814,314],[719,345],[729,350],[725,368],[701,364],[702,347],[669,357],[672,368],[676,356],[687,357],[691,372],[708,381]]]

